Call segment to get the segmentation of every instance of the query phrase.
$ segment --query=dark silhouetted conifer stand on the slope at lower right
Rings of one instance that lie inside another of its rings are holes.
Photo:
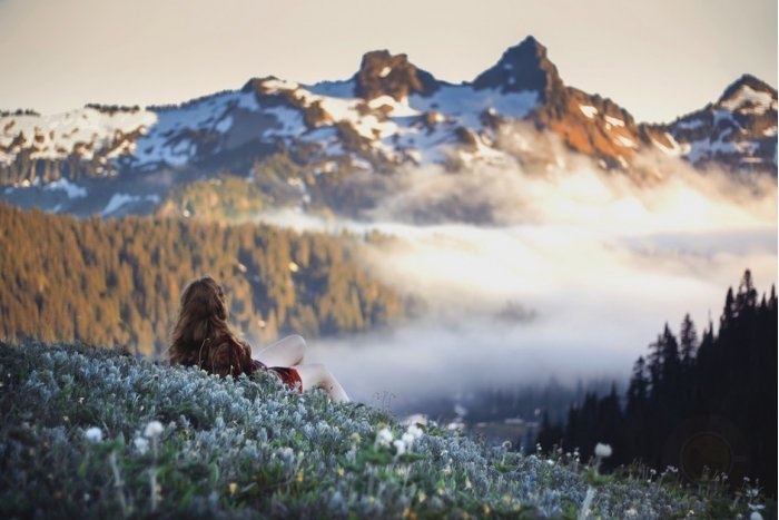
[[[747,271],[729,288],[714,332],[700,333],[684,316],[679,335],[667,324],[633,366],[624,398],[588,393],[564,425],[542,423],[544,450],[613,447],[612,469],[640,461],[688,480],[721,480],[736,488],[759,479],[777,489],[777,294],[758,295]]]

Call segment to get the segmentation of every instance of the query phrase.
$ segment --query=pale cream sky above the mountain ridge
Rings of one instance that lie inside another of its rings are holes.
[[[470,81],[529,35],[566,85],[639,121],[716,101],[745,72],[777,86],[776,0],[0,0],[0,109],[345,79],[376,49]]]

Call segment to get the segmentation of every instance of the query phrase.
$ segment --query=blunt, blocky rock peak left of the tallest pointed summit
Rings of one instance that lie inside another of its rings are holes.
[[[433,75],[416,68],[406,55],[393,56],[388,50],[366,52],[353,79],[354,95],[368,101],[381,96],[396,101],[412,94],[428,96],[440,86]]]

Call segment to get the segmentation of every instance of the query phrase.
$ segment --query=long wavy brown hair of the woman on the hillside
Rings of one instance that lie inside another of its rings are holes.
[[[168,359],[221,376],[253,372],[252,349],[227,325],[225,294],[210,276],[195,279],[181,293]]]

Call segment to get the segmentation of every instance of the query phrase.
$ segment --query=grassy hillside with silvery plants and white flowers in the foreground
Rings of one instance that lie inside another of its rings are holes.
[[[108,349],[0,343],[0,518],[576,518],[585,500],[592,518],[749,518],[758,500]]]

